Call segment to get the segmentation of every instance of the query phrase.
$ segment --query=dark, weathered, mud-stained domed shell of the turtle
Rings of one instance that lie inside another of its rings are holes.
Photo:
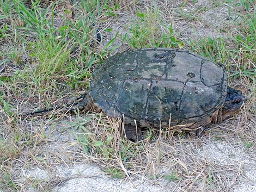
[[[90,83],[97,107],[141,126],[203,120],[223,105],[226,95],[222,65],[171,48],[137,49],[109,57]]]

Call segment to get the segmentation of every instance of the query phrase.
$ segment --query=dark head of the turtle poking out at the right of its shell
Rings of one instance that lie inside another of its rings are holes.
[[[228,86],[227,96],[222,108],[223,119],[230,117],[238,112],[244,102],[247,101],[247,97],[242,95],[240,90],[230,88]]]

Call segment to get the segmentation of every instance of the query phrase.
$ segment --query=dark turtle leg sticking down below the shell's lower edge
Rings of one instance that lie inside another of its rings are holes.
[[[136,143],[142,139],[142,131],[140,127],[125,125],[124,133],[125,137],[130,141]]]

